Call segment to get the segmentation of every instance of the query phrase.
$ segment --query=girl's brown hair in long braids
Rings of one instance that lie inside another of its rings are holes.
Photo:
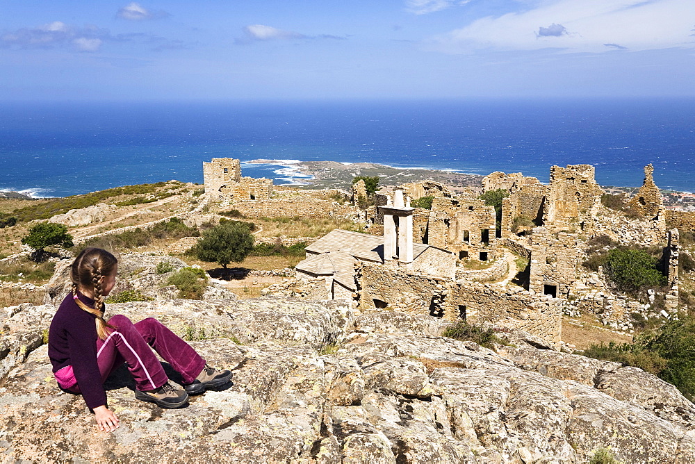
[[[110,276],[114,271],[118,260],[113,254],[101,248],[85,248],[72,263],[70,279],[72,280],[72,297],[77,306],[97,317],[97,335],[101,340],[106,340],[109,329],[115,329],[108,324],[101,315],[104,308],[104,295],[101,295],[101,278]],[[90,292],[94,297],[94,307],[87,306],[77,297],[77,290]]]

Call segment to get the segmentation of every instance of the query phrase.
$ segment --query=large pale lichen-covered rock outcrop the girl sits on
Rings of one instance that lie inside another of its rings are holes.
[[[53,308],[0,315],[7,461],[577,463],[599,447],[626,463],[695,459],[695,406],[651,374],[515,331],[499,333],[514,346],[486,349],[441,337],[441,319],[340,300],[109,305],[163,320],[234,370],[234,385],[162,410],[118,370],[107,387],[121,426],[98,432],[51,375],[41,335]]]

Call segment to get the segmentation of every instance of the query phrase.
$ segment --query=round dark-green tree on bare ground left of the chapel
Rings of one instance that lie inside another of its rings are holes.
[[[194,251],[199,260],[218,263],[227,269],[232,261],[241,263],[252,249],[254,236],[250,226],[240,221],[224,221],[205,231]]]

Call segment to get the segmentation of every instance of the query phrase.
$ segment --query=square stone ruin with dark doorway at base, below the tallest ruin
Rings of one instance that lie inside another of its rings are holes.
[[[535,227],[531,235],[529,292],[568,295],[577,280],[578,253],[577,235],[559,232],[555,238],[548,229]]]

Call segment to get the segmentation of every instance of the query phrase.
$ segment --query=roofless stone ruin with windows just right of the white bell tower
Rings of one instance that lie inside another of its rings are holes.
[[[493,206],[476,197],[432,200],[427,226],[429,245],[452,251],[459,259],[488,260],[496,256]]]

